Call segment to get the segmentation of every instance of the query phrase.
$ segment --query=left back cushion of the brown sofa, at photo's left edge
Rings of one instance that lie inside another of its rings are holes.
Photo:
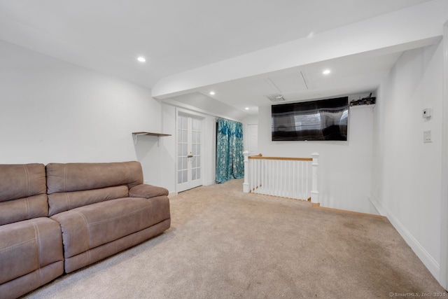
[[[0,225],[48,216],[43,164],[0,165]]]

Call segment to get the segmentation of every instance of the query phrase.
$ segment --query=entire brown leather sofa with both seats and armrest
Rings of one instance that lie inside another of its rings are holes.
[[[17,298],[170,226],[139,162],[0,165],[0,298]]]

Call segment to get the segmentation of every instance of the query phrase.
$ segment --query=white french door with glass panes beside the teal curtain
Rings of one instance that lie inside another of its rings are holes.
[[[177,192],[202,185],[202,120],[177,116]]]

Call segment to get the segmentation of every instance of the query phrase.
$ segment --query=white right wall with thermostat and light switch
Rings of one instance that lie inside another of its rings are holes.
[[[378,90],[372,200],[439,277],[442,163],[442,43],[409,50]],[[421,118],[433,109],[430,120]],[[433,142],[423,144],[423,131]],[[446,182],[444,182],[446,183]]]

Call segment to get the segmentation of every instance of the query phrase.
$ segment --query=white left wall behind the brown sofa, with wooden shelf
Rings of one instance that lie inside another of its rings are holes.
[[[151,90],[0,41],[0,163],[140,160],[160,184]]]

